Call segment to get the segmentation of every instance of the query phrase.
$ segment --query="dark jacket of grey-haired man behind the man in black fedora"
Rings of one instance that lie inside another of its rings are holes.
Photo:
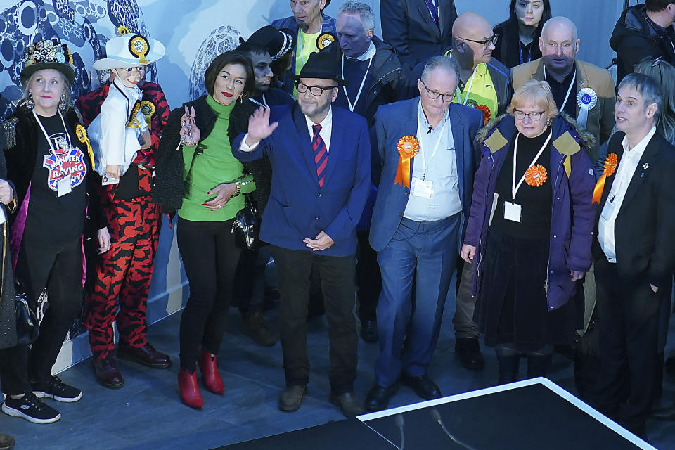
[[[366,93],[366,110],[364,111],[368,127],[375,124],[375,112],[380,105],[399,100],[401,91],[408,79],[408,73],[401,65],[394,48],[375,36],[373,37],[373,44],[375,44],[377,51],[373,57],[371,70],[368,70],[368,78],[370,79],[368,86],[370,87]],[[335,55],[338,61],[342,58],[342,49],[340,49],[338,41],[333,42],[322,51]]]

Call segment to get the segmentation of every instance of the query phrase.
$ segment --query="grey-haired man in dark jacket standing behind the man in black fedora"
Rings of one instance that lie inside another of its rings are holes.
[[[333,42],[323,52],[335,55],[340,61],[340,76],[347,86],[340,87],[335,105],[347,108],[366,118],[368,127],[375,124],[375,112],[380,105],[393,103],[406,82],[406,72],[394,49],[375,37],[375,13],[367,4],[347,1],[340,6],[336,18],[338,42]],[[372,152],[372,167],[380,167],[377,153]],[[376,184],[379,174],[373,173]],[[359,240],[356,284],[359,287],[359,319],[361,338],[366,342],[378,340],[375,309],[380,297],[380,268],[377,254],[368,244],[373,205],[377,188],[371,184],[371,193],[363,217],[356,228]]]

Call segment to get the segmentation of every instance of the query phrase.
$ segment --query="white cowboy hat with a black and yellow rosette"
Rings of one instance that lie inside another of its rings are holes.
[[[127,33],[105,44],[106,58],[94,62],[96,70],[124,69],[154,63],[165,55],[164,45],[141,34]]]

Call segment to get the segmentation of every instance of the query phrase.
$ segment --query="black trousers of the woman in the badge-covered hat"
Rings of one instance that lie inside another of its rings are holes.
[[[30,349],[17,345],[0,350],[2,392],[12,395],[30,392],[30,382],[49,380],[68,328],[82,310],[81,238],[49,249],[22,245],[16,276],[23,282],[30,302],[47,288],[49,308]]]

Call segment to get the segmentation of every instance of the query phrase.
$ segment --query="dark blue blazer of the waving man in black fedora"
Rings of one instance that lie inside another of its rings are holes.
[[[266,154],[272,165],[260,238],[278,247],[311,252],[302,240],[314,239],[324,231],[335,243],[321,250],[321,255],[354,255],[356,224],[371,188],[371,144],[366,120],[333,106],[333,131],[321,188],[307,121],[297,103],[271,108],[270,122],[278,122],[279,127],[255,150],[239,150],[245,134],[232,145],[232,154],[238,160],[257,160]]]

